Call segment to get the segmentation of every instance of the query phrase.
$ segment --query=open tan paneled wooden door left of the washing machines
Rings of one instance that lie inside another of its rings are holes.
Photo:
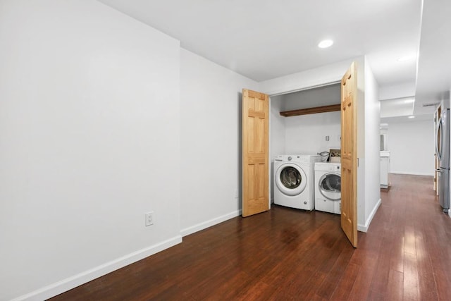
[[[242,216],[269,209],[268,99],[242,90]]]

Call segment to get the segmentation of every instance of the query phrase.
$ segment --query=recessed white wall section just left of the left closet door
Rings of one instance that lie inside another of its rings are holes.
[[[241,93],[258,86],[190,51],[180,54],[180,221],[187,235],[240,214]]]

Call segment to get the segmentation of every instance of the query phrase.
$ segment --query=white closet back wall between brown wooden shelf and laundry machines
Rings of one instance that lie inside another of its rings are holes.
[[[329,136],[329,141],[326,141],[326,136]],[[340,149],[341,113],[285,117],[285,137],[287,154],[317,154]]]

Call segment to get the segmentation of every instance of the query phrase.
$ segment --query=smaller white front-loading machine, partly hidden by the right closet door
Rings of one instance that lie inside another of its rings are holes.
[[[315,163],[315,210],[341,214],[340,163]]]

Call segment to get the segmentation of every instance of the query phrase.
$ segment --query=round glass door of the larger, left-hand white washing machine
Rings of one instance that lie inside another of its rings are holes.
[[[307,176],[297,164],[284,163],[277,168],[276,185],[285,195],[299,195],[307,185]]]

